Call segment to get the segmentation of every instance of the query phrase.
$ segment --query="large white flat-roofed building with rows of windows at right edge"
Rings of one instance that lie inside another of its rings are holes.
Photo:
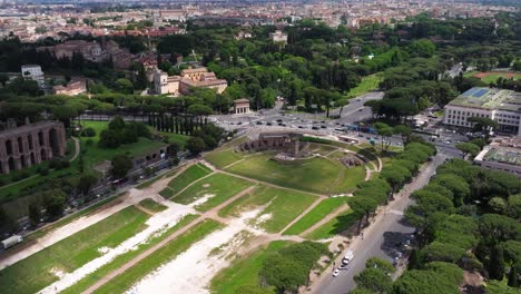
[[[472,88],[445,106],[443,124],[449,128],[471,129],[471,117],[498,121],[500,134],[521,135],[521,92],[491,88]]]

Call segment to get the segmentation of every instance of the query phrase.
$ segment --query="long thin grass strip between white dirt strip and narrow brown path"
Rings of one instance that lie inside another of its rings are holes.
[[[134,259],[136,256],[145,252],[146,249],[155,246],[159,242],[164,241],[167,238],[169,235],[174,234],[175,232],[179,231],[181,227],[188,225],[190,222],[196,219],[198,215],[186,215],[184,216],[179,223],[177,223],[175,226],[170,227],[166,232],[161,233],[159,236],[154,236],[150,238],[148,242],[139,245],[135,251],[127,252],[126,254],[119,255],[116,257],[111,263],[106,264],[98,268],[96,272],[89,274],[88,276],[83,277],[81,281],[78,283],[73,284],[72,286],[68,287],[62,294],[76,294],[76,293],[82,293],[86,291],[88,287],[90,287],[92,284],[99,281],[101,276],[106,276],[109,273],[120,268],[122,265],[126,263],[130,262]]]

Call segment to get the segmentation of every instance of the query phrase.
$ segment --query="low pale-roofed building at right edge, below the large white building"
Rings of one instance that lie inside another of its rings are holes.
[[[514,174],[521,178],[521,139],[498,139],[485,146],[474,158],[474,164]]]

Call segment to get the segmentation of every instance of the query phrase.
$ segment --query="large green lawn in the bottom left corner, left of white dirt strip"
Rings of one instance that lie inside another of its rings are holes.
[[[36,293],[58,281],[52,270],[70,273],[145,228],[148,215],[125,208],[0,272],[0,293]]]

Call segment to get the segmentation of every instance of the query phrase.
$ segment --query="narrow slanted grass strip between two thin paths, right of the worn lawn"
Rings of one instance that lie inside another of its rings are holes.
[[[336,208],[345,204],[345,197],[327,198],[322,200],[315,208],[298,219],[293,226],[284,231],[284,235],[298,235],[318,223],[321,219],[333,213]]]

